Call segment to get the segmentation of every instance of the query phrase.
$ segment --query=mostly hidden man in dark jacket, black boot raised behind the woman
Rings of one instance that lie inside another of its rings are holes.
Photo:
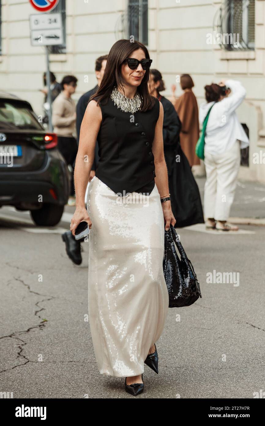
[[[99,88],[99,85],[101,83],[101,80],[102,80],[102,77],[103,77],[103,74],[104,74],[104,71],[105,71],[107,58],[108,58],[108,55],[100,56],[99,58],[97,58],[96,66],[95,66],[97,85],[95,87],[93,87],[93,89],[84,93],[80,97],[79,101],[77,102],[77,107],[76,107],[76,113],[77,113],[77,118],[76,118],[77,145],[79,144],[80,128],[81,128],[81,124],[82,124],[82,121],[83,121],[83,117],[84,117],[84,114],[85,114],[86,107],[88,106],[88,101],[89,101],[91,95],[93,95],[95,92],[97,92],[97,89]],[[91,173],[90,173],[90,176],[89,176],[89,182],[95,176],[98,160],[99,160],[98,144],[96,142],[95,157],[94,157],[94,162],[93,162],[93,166],[92,166],[92,169],[91,169]],[[71,231],[67,231],[67,232],[63,233],[62,239],[66,243],[66,253],[68,254],[69,258],[76,265],[80,265],[80,263],[82,262],[80,242],[82,242],[83,240],[77,241],[74,238]]]

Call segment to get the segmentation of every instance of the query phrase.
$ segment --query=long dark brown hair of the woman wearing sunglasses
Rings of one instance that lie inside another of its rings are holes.
[[[145,53],[145,58],[150,59],[148,50],[139,41],[131,43],[130,40],[118,40],[111,47],[108,54],[108,60],[100,87],[97,92],[91,96],[90,100],[97,101],[97,104],[103,99],[107,99],[114,86],[122,86],[123,78],[121,75],[121,65],[125,58],[129,58],[132,52],[137,49],[142,49]],[[154,105],[154,97],[148,92],[148,81],[149,81],[149,69],[145,71],[145,75],[142,78],[140,86],[137,87],[137,91],[142,96],[141,111],[145,112],[152,108]]]

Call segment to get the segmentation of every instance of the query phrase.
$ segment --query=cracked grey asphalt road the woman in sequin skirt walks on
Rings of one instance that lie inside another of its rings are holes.
[[[134,398],[124,379],[100,375],[88,314],[88,243],[83,263],[68,259],[61,233],[37,228],[28,213],[0,210],[0,391],[14,398]],[[178,230],[202,299],[168,309],[157,342],[159,374],[145,366],[138,398],[253,398],[265,391],[265,227],[240,233]],[[213,271],[239,285],[207,283]],[[236,276],[236,275],[235,275]],[[180,315],[180,317],[179,317]]]

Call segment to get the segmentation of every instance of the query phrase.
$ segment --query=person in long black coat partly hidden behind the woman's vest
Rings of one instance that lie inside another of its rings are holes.
[[[149,91],[161,102],[164,110],[163,143],[168,169],[168,186],[175,227],[204,223],[199,188],[191,172],[188,159],[180,146],[181,121],[172,103],[160,92],[165,90],[162,75],[150,69]]]

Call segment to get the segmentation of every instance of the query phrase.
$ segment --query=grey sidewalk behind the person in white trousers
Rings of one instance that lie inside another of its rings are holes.
[[[196,177],[203,204],[205,177]],[[238,181],[229,222],[241,225],[265,225],[265,185]]]

